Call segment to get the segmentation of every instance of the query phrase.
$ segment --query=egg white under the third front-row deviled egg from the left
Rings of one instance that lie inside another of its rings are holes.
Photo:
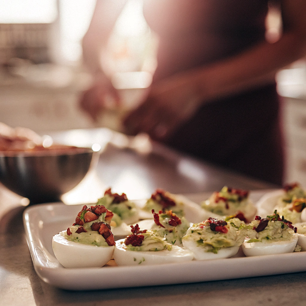
[[[212,252],[206,252],[205,248],[199,246],[196,241],[182,239],[182,242],[186,249],[189,249],[193,252],[194,258],[196,260],[229,258],[236,255],[239,251],[239,247],[227,247],[221,248],[218,253],[215,254]]]

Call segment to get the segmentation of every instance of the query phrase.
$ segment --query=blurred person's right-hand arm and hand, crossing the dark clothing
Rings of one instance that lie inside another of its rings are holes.
[[[209,101],[271,83],[275,72],[305,54],[306,3],[282,0],[284,33],[208,66],[177,73],[152,85],[146,101],[125,120],[127,131],[166,138]]]

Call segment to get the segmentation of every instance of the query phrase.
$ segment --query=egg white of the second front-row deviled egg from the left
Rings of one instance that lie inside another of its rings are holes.
[[[114,259],[118,266],[153,265],[161,263],[180,263],[193,259],[191,251],[172,246],[172,250],[162,251],[130,251],[125,248],[124,239],[116,241]]]

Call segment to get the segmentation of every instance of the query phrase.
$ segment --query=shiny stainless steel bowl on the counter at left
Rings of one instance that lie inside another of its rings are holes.
[[[99,152],[75,150],[0,152],[0,182],[31,203],[57,202],[95,166]]]

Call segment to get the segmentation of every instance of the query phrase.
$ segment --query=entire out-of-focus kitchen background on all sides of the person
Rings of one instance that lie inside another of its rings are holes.
[[[75,128],[120,130],[119,116],[139,103],[156,68],[158,37],[129,0],[119,16],[101,65],[124,99],[121,110],[91,121],[78,107],[91,84],[82,65],[82,38],[96,0],[0,0],[0,121],[43,134]],[[270,7],[266,38],[281,35],[277,7]],[[286,140],[285,181],[306,187],[306,60],[277,74]]]

